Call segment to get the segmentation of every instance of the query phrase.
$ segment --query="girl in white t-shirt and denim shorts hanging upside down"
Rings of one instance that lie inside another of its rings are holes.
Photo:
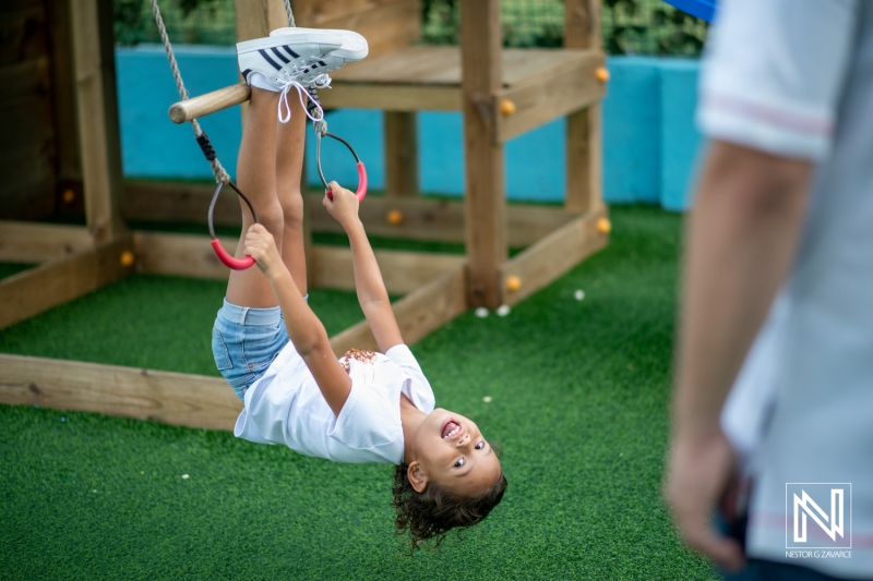
[[[327,72],[366,57],[367,41],[346,31],[282,28],[237,49],[252,86],[237,183],[259,223],[241,204],[236,257],[250,255],[258,268],[230,273],[213,329],[216,365],[246,406],[234,434],[335,462],[396,464],[395,525],[409,530],[412,548],[439,544],[451,529],[485,519],[506,477],[474,422],[434,409],[400,337],[358,198],[336,182],[323,204],[348,234],[358,300],[382,353],[351,350],[337,361],[307,304],[303,102],[308,89],[330,83]],[[291,89],[298,98],[288,99]]]

